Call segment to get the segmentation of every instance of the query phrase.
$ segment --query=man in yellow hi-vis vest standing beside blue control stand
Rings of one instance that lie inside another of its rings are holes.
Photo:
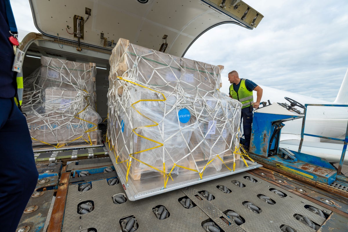
[[[242,103],[240,122],[243,121],[244,150],[250,146],[251,125],[253,123],[253,109],[258,109],[262,97],[262,88],[248,79],[240,79],[237,71],[228,73],[230,85],[230,97]],[[256,102],[253,100],[253,90],[256,91]]]

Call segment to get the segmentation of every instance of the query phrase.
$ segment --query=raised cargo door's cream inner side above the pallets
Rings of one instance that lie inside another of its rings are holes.
[[[263,18],[240,0],[30,0],[30,5],[44,35],[110,50],[125,38],[175,56],[214,26],[253,29]]]

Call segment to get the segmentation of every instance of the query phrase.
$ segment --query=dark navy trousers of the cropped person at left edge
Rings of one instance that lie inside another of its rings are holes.
[[[37,181],[26,119],[13,98],[0,98],[0,231],[16,231]]]

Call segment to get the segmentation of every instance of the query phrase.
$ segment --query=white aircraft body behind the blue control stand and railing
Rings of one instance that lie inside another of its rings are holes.
[[[261,85],[260,85],[261,86]],[[263,96],[261,101],[269,100],[271,103],[287,103],[284,97],[289,97],[301,104],[348,104],[348,70],[343,79],[342,85],[334,102],[324,101],[300,94],[291,93],[279,89],[261,86]],[[256,97],[256,96],[254,96]],[[256,100],[256,99],[255,99]],[[268,104],[268,103],[267,103]],[[297,107],[298,108],[298,107]],[[300,109],[303,111],[303,109]],[[343,139],[347,133],[348,107],[338,106],[308,106],[304,133],[332,138]],[[302,120],[295,119],[284,122],[280,135],[279,147],[297,151],[301,140]],[[342,154],[343,142],[325,138],[304,136],[302,153],[325,158],[329,162],[339,162]],[[348,155],[345,156],[345,163],[348,163]]]

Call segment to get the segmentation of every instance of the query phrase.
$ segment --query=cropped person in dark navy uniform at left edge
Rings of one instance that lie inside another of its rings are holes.
[[[0,230],[6,232],[16,231],[38,181],[28,125],[14,101],[17,72],[9,38],[16,33],[10,1],[0,0]]]

